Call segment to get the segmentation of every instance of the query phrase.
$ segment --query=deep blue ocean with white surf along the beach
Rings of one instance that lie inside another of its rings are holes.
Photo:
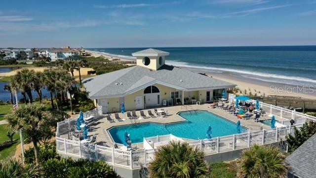
[[[145,48],[88,48],[131,56]],[[155,47],[170,52],[166,63],[205,73],[230,73],[248,79],[316,87],[316,45],[238,47]]]

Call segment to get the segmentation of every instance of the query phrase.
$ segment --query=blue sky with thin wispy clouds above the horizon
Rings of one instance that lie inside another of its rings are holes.
[[[0,47],[316,45],[316,0],[1,0]]]

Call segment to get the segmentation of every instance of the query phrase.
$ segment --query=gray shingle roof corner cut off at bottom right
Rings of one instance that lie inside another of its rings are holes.
[[[316,134],[305,141],[285,160],[291,167],[290,172],[299,178],[316,176]]]

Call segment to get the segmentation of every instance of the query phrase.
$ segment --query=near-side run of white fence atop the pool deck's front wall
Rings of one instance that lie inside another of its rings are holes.
[[[262,130],[252,133],[234,134],[212,139],[198,140],[188,143],[203,151],[206,155],[249,148],[254,144],[269,144],[285,140],[287,134],[294,134],[294,127],[300,128],[303,124],[286,126],[271,130]],[[163,137],[167,138],[167,135]],[[150,139],[157,138],[151,137]],[[170,136],[169,136],[170,138]],[[71,157],[89,160],[102,160],[110,165],[126,168],[140,168],[148,166],[155,158],[156,149],[123,151],[121,149],[100,146],[96,144],[80,144],[65,138],[56,137],[57,152]]]

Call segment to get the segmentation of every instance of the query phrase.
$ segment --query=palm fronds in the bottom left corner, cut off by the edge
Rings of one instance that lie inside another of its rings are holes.
[[[14,159],[0,161],[0,178],[41,178],[41,176],[38,166],[23,167]]]

